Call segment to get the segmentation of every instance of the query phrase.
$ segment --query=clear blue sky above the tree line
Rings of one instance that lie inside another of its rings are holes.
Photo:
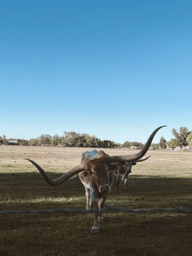
[[[192,130],[192,1],[0,1],[0,135]]]

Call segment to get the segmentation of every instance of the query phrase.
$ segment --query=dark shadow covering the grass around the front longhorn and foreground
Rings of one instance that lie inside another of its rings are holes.
[[[53,179],[60,173],[49,173]],[[1,209],[85,209],[79,178],[49,186],[39,173],[0,174]],[[107,203],[134,209],[191,207],[192,179],[132,175],[112,188]],[[190,255],[192,215],[105,213],[97,236],[90,234],[92,215],[2,215],[0,255]],[[40,239],[41,238],[41,239]],[[17,254],[15,254],[17,251]]]

